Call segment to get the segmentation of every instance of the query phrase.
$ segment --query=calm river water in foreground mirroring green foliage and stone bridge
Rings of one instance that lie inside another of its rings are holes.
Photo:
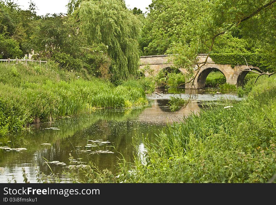
[[[45,164],[48,161],[60,161],[70,164],[68,159],[71,153],[76,164],[80,161],[87,164],[95,163],[100,170],[109,169],[116,172],[118,158],[124,156],[127,162],[133,162],[133,154],[145,163],[145,146],[142,136],[149,141],[155,140],[155,133],[172,123],[179,121],[185,115],[199,111],[198,102],[192,101],[189,105],[177,112],[171,112],[167,106],[168,100],[154,100],[153,105],[144,109],[119,111],[98,111],[93,114],[81,115],[77,118],[65,118],[54,123],[35,125],[29,133],[17,133],[0,139],[0,146],[11,148],[25,147],[28,150],[16,152],[0,149],[0,183],[8,182],[14,176],[17,182],[23,182],[22,167],[25,168],[30,182],[36,182],[36,169],[47,175],[50,168]],[[45,129],[56,127],[60,130]],[[138,136],[138,139],[133,136]],[[97,146],[85,147],[93,144],[91,141],[105,141],[111,143],[97,143]],[[133,140],[138,140],[136,151]],[[49,143],[51,145],[41,145]],[[89,149],[91,151],[86,152]],[[108,150],[112,153],[91,154],[93,151]],[[51,169],[58,174],[61,182],[68,182],[62,174],[66,166],[51,165]]]

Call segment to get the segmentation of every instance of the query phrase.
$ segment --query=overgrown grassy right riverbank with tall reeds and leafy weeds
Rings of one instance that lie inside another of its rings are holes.
[[[275,111],[276,80],[264,77],[245,100],[167,126],[157,144],[145,140],[147,154],[136,157],[131,172],[121,164],[114,181],[268,182],[276,172]]]

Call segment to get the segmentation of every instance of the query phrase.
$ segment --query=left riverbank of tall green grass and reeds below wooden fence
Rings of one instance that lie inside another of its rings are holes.
[[[148,104],[145,82],[114,86],[86,73],[61,70],[54,63],[0,64],[0,70],[0,136],[57,117]]]

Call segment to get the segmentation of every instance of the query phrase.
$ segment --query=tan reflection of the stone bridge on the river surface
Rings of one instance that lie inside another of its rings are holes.
[[[146,108],[140,115],[139,121],[152,122],[157,124],[173,123],[183,120],[184,116],[190,115],[192,112],[197,113],[200,110],[196,101],[191,101],[185,108],[176,112],[171,112],[166,106],[169,100],[154,100],[154,104],[150,108]]]

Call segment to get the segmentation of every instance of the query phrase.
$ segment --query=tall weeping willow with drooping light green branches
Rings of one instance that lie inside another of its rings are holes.
[[[141,22],[126,8],[125,1],[72,0],[71,4],[68,4],[68,11],[73,10],[79,18],[80,30],[87,36],[88,42],[108,46],[108,54],[112,59],[109,68],[112,81],[134,75],[138,69],[137,39],[141,33]]]

